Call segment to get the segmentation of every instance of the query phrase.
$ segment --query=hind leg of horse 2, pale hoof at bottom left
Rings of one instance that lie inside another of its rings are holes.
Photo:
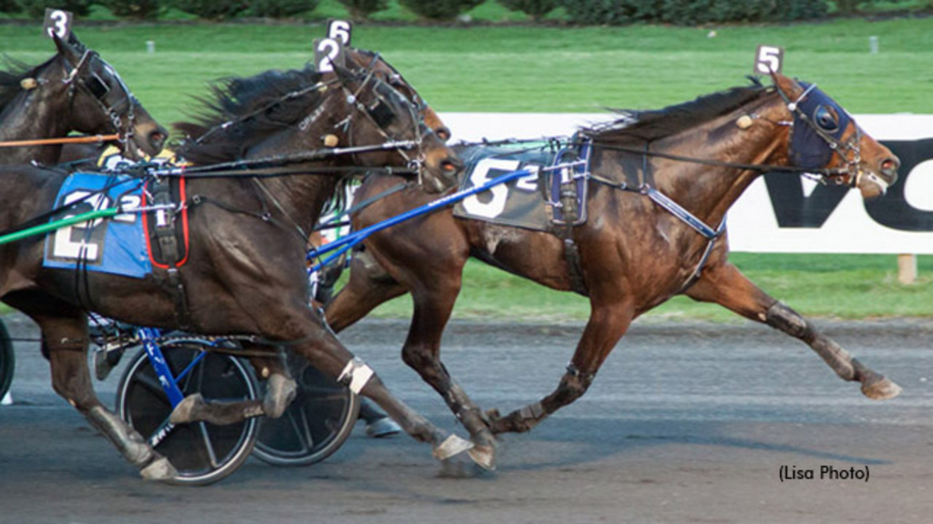
[[[42,331],[51,366],[52,388],[75,407],[147,480],[167,480],[177,472],[126,422],[94,394],[88,369],[88,319],[81,310],[50,296],[5,301],[28,314]]]

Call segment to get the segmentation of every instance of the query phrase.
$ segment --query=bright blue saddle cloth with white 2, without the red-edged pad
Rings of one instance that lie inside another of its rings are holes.
[[[55,207],[83,200],[52,220],[118,204],[124,210],[139,208],[143,202],[142,186],[142,179],[128,175],[73,173],[59,189]],[[152,272],[152,264],[141,214],[118,214],[56,229],[46,237],[43,265],[144,278]]]

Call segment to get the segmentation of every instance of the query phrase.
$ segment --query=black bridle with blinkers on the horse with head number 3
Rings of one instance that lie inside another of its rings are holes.
[[[123,82],[123,78],[118,75],[117,70],[104,61],[96,51],[86,48],[80,60],[72,66],[70,71],[68,70],[68,66],[71,64],[68,62],[68,59],[65,57],[62,57],[62,59],[64,68],[62,83],[68,86],[69,109],[71,109],[75,103],[76,90],[84,90],[91,96],[91,100],[97,103],[104,116],[110,120],[114,130],[117,131],[117,140],[123,145],[125,150],[126,146],[133,138],[133,128],[135,125],[134,106],[139,103],[136,97],[132,95],[130,88]],[[116,102],[110,100],[112,97],[108,95],[111,89],[97,73],[91,72],[89,76],[82,74],[84,70],[91,66],[91,62],[93,61],[100,62],[104,69],[116,79],[120,94],[122,95]]]

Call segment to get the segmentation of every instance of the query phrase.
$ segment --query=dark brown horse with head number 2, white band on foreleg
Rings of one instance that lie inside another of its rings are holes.
[[[204,163],[253,157],[272,159],[272,166],[295,161],[301,152],[321,153],[320,158],[308,155],[278,175],[259,168],[242,176],[189,171],[189,198],[177,204],[176,213],[187,210],[190,247],[174,276],[167,269],[137,279],[86,266],[44,267],[41,236],[0,245],[0,299],[39,325],[55,391],[142,476],[174,476],[172,465],[93,393],[87,365],[87,311],[92,310],[129,324],[165,329],[187,324],[201,334],[282,345],[372,398],[412,437],[431,444],[439,459],[468,448],[389,393],[309,307],[307,285],[301,285],[307,282],[303,231],[313,227],[341,173],[357,166],[413,169],[427,191],[437,192],[453,183],[459,160],[411,103],[371,69],[341,68],[329,81],[310,70],[267,72],[230,81],[228,90],[217,94],[213,119],[227,125],[210,141],[183,146],[186,158]],[[329,145],[322,147],[323,142]],[[65,176],[54,169],[5,168],[0,230],[48,213]],[[186,307],[179,308],[179,302]],[[261,414],[260,409],[256,415]]]

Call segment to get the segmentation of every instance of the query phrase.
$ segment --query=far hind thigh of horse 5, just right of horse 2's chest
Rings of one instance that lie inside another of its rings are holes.
[[[350,262],[350,280],[325,306],[327,324],[340,333],[383,302],[407,291],[385,273],[369,252],[361,252]]]

